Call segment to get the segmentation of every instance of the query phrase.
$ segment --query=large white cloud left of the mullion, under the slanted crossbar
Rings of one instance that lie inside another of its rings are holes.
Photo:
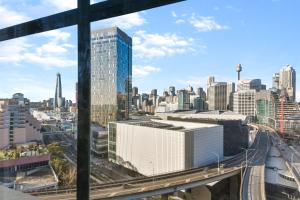
[[[55,30],[38,34],[35,37],[43,37],[48,41],[40,46],[31,45],[33,43],[27,38],[1,42],[0,63],[10,65],[29,63],[46,69],[71,67],[77,64],[76,59],[69,57],[70,49],[74,48],[74,45],[68,43],[70,33]]]

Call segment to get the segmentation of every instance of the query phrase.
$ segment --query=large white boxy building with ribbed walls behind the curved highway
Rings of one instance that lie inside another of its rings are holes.
[[[109,123],[109,160],[143,175],[164,174],[223,158],[223,126],[169,120]]]

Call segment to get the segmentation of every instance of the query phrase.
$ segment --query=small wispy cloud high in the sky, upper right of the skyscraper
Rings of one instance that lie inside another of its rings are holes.
[[[218,24],[213,17],[203,17],[193,15],[190,20],[190,24],[193,25],[199,32],[207,32],[212,30],[228,29],[228,26]]]

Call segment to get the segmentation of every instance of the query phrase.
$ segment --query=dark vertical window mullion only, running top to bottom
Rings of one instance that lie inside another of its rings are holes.
[[[78,0],[78,139],[77,199],[88,200],[90,190],[91,28],[90,0]]]

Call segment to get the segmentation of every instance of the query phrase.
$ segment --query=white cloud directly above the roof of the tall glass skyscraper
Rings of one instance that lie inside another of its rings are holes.
[[[100,22],[106,26],[117,26],[121,29],[131,29],[136,26],[141,26],[146,23],[140,13],[131,13],[120,17],[114,17]]]

